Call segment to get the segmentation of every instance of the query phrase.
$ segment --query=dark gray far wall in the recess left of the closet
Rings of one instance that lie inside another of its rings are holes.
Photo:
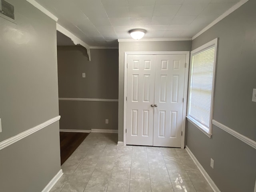
[[[82,78],[82,73],[86,78]],[[58,46],[60,98],[118,99],[118,50]],[[118,102],[60,101],[61,129],[118,128]],[[105,123],[109,120],[109,124]]]

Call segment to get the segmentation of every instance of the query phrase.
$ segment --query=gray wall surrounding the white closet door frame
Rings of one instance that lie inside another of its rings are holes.
[[[118,141],[124,140],[124,52],[190,50],[191,41],[119,42]]]

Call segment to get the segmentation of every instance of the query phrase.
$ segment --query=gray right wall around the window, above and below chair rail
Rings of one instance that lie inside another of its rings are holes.
[[[192,50],[219,38],[213,119],[256,140],[256,0],[192,41]],[[188,122],[187,146],[222,192],[253,192],[256,150],[213,126],[212,138]],[[214,159],[214,169],[210,168]]]

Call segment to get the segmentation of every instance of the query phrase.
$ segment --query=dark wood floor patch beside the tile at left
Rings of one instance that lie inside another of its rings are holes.
[[[60,161],[63,164],[89,133],[60,132]]]

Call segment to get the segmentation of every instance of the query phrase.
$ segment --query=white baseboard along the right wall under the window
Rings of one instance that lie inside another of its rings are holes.
[[[206,181],[209,183],[209,185],[211,186],[212,190],[214,192],[220,192],[220,190],[218,189],[218,187],[216,186],[216,184],[213,182],[212,178],[210,178],[210,176],[208,175],[208,173],[206,172],[206,170],[204,170],[203,166],[200,164],[200,162],[196,159],[196,157],[194,156],[194,154],[190,151],[190,149],[188,148],[188,146],[186,146],[186,151],[188,152],[188,154],[190,155],[190,157],[192,158],[192,160],[195,162],[196,166],[198,167],[198,169],[200,170],[200,172],[202,173],[202,175],[204,176],[204,178],[206,179]]]

